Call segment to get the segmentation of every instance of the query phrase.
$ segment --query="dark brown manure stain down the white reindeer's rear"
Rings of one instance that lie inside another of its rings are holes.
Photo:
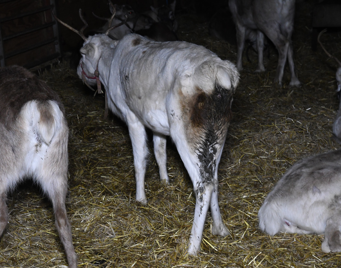
[[[217,168],[217,153],[225,141],[227,128],[232,117],[232,90],[218,85],[207,95],[196,88],[194,96],[183,96],[182,111],[187,114],[186,133],[188,143],[194,149],[200,166],[201,181],[197,184],[196,196],[202,199],[205,184],[213,182],[214,170]],[[182,94],[180,90],[180,95]]]

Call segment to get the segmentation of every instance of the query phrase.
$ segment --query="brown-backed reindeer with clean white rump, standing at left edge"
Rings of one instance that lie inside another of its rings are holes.
[[[32,177],[51,199],[70,268],[77,267],[66,215],[68,134],[56,92],[20,66],[0,68],[0,235],[8,224],[6,195]]]

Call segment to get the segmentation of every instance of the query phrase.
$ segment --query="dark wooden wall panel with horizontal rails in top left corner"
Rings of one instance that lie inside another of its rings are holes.
[[[54,0],[0,0],[1,66],[28,68],[61,56]]]

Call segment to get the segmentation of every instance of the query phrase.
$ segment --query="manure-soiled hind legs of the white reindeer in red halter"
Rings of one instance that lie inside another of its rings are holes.
[[[228,234],[218,205],[217,168],[230,119],[232,95],[216,86],[208,95],[196,88],[194,96],[179,95],[168,107],[170,136],[193,182],[196,196],[188,253],[200,249],[206,214],[211,206],[213,233]],[[178,102],[177,104],[175,102]]]

